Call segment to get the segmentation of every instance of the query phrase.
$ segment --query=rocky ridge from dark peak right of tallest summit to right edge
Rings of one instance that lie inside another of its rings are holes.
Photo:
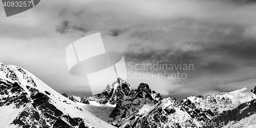
[[[117,127],[208,128],[215,123],[225,122],[223,125],[226,125],[239,121],[256,112],[256,95],[246,88],[206,97],[190,96],[181,102],[172,98],[156,100],[158,96],[150,92],[148,85],[141,83],[138,89],[130,92],[130,98],[117,104],[109,122]]]

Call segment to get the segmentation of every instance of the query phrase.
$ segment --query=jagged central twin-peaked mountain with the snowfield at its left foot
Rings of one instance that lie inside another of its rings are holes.
[[[80,102],[84,100],[89,101],[89,103],[86,103],[89,105],[81,104],[84,109],[109,123],[115,122],[112,123],[115,126],[119,126],[123,123],[120,119],[129,117],[135,112],[143,115],[147,109],[151,108],[151,106],[162,99],[159,93],[151,91],[148,84],[140,83],[138,88],[133,90],[130,84],[121,77],[119,77],[109,89],[107,88],[100,94],[81,98]],[[79,102],[79,97],[76,96],[70,96],[69,99]],[[98,111],[95,108],[97,108]],[[117,123],[116,121],[118,120],[119,122]]]

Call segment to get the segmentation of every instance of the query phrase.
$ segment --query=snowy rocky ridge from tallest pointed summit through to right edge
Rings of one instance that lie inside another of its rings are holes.
[[[140,83],[133,90],[125,88],[121,90],[123,79],[118,78],[109,90],[97,96],[91,96],[90,102],[95,105],[102,103],[102,96],[109,97],[105,101],[110,104],[110,97],[118,97],[115,101],[115,109],[98,108],[92,106],[86,109],[92,111],[98,117],[108,121],[117,127],[252,127],[255,125],[255,90],[246,88],[223,92],[218,95],[189,96],[182,101],[172,98],[162,99],[159,93],[151,91],[146,83]],[[116,86],[113,86],[116,85]],[[127,86],[125,86],[127,87]],[[130,87],[130,86],[129,86]],[[115,93],[111,93],[111,90]],[[124,93],[126,91],[126,93]],[[104,94],[104,95],[103,95]],[[120,95],[121,94],[121,95]],[[105,98],[104,97],[104,98]],[[103,99],[104,99],[103,98]],[[113,98],[114,99],[114,98]],[[104,104],[102,104],[104,105]]]

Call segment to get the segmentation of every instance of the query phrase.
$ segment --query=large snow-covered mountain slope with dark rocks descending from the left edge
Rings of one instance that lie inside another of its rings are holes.
[[[114,127],[28,71],[0,63],[0,127]]]

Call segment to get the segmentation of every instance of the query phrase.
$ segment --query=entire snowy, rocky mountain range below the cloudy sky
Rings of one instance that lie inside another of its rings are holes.
[[[193,95],[178,101],[163,99],[143,82],[131,89],[119,77],[100,94],[67,98],[16,66],[1,63],[0,76],[3,128],[256,126],[256,89]]]

